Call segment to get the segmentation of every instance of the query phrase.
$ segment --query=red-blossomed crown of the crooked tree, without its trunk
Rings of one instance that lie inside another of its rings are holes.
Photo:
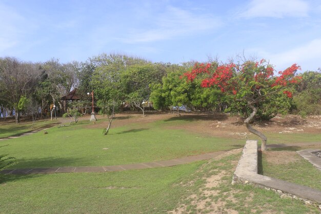
[[[285,87],[288,84],[299,83],[302,77],[295,76],[297,70],[300,70],[300,66],[293,64],[284,71],[279,71],[279,76],[274,77],[273,66],[269,65],[265,60],[259,62],[248,61],[242,65],[233,63],[225,65],[196,63],[193,69],[184,73],[181,78],[186,76],[187,81],[193,81],[198,74],[207,73],[209,77],[202,81],[202,87],[216,85],[222,92],[230,92],[236,95],[238,91],[258,93],[260,88],[269,86],[271,88],[275,86]],[[290,91],[284,91],[283,93],[289,98],[292,97]]]

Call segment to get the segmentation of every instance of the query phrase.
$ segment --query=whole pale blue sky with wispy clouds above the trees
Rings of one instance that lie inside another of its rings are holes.
[[[0,57],[86,61],[125,53],[152,62],[236,55],[321,67],[321,1],[0,0]]]

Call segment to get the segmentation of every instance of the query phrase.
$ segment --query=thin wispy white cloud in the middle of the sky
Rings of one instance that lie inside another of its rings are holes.
[[[168,7],[166,12],[154,19],[150,29],[134,29],[127,37],[119,38],[125,43],[144,43],[169,40],[181,35],[193,35],[222,25],[212,15],[193,14],[189,11]]]

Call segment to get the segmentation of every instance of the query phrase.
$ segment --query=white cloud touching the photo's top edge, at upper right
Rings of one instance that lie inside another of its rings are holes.
[[[241,17],[275,17],[308,16],[309,5],[303,0],[252,0]]]

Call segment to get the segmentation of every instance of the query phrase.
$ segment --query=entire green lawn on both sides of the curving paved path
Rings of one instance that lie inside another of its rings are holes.
[[[0,154],[8,153],[19,163],[12,168],[54,166],[107,166],[169,160],[204,152],[240,148],[245,140],[213,138],[175,125],[193,123],[193,120],[159,120],[151,123],[126,124],[110,130],[104,136],[102,129],[80,121],[70,127],[57,126],[25,137],[0,141]],[[103,121],[97,121],[103,123]],[[13,126],[14,127],[14,126]],[[20,130],[16,130],[19,132]],[[14,132],[13,134],[16,134]],[[6,134],[9,134],[6,133]],[[274,136],[274,140],[301,142],[310,139],[289,134]],[[273,134],[271,134],[273,138]],[[292,139],[291,139],[292,138]],[[273,141],[274,141],[273,140]],[[274,142],[275,143],[275,142]],[[105,149],[104,149],[105,148]],[[108,149],[106,149],[108,148]],[[104,173],[0,174],[0,213],[168,213],[186,204],[187,213],[211,213],[212,204],[220,204],[219,213],[233,209],[245,213],[319,213],[318,209],[303,203],[282,199],[273,191],[247,185],[231,185],[232,175],[240,154],[219,161],[202,161],[174,167],[152,168]],[[266,167],[263,163],[263,166]],[[313,186],[319,177],[306,177],[311,165],[296,163],[295,172],[280,175],[282,179],[297,177]],[[272,166],[273,169],[275,169]],[[280,171],[280,169],[278,171]],[[268,169],[264,169],[267,173]],[[217,186],[205,188],[206,179],[225,171]],[[284,171],[284,170],[283,170]],[[277,172],[271,172],[276,174]],[[277,176],[275,176],[277,178]],[[307,181],[313,180],[314,181]],[[295,178],[296,179],[296,178]],[[296,182],[296,181],[291,181]],[[312,183],[312,184],[311,184]],[[313,186],[319,188],[317,185]],[[213,190],[215,196],[205,196],[204,190]],[[193,205],[191,195],[206,200],[200,209]]]

